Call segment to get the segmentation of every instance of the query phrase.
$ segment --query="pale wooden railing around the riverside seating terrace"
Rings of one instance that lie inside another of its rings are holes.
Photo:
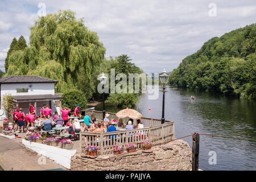
[[[97,119],[102,119],[101,111],[88,110],[88,114],[94,113]],[[109,113],[110,119],[118,119],[115,113]],[[127,119],[128,121],[128,119]],[[123,123],[126,125],[126,119]],[[161,124],[160,119],[141,118],[144,125],[143,129],[113,131],[108,133],[80,133],[80,154],[86,153],[85,146],[100,147],[100,155],[113,152],[113,146],[126,147],[126,144],[136,143],[137,148],[141,148],[141,142],[149,141],[152,144],[168,142],[175,138],[174,121],[166,121]]]

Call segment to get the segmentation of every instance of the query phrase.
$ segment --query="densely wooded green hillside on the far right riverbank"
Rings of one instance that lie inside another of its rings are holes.
[[[170,74],[170,84],[256,99],[256,24],[205,42]]]

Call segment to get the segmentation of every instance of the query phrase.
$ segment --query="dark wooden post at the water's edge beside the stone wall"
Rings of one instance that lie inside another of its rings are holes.
[[[192,171],[198,171],[199,166],[199,134],[194,133],[192,139]]]

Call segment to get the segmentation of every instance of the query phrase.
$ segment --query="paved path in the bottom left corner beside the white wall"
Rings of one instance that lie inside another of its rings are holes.
[[[25,148],[20,142],[20,138],[12,140],[0,137],[0,166],[3,170],[40,171],[64,168],[52,160]]]

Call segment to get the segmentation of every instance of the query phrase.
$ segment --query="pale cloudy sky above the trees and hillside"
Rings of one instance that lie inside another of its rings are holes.
[[[146,73],[172,71],[214,36],[256,23],[255,0],[0,0],[2,71],[11,41],[23,35],[29,43],[44,6],[46,14],[75,11],[97,32],[106,57],[128,55]]]

